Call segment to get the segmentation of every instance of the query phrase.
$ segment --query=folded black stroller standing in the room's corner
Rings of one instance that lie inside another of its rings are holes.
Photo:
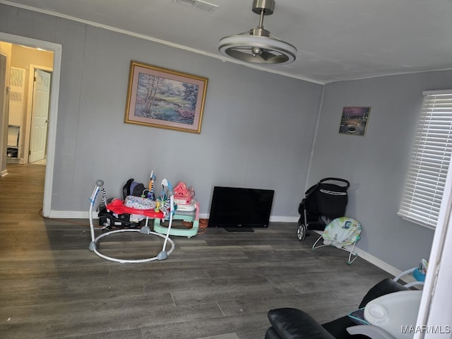
[[[312,186],[299,203],[297,238],[300,242],[310,230],[325,230],[335,218],[343,217],[347,207],[350,182],[339,178],[325,178]]]

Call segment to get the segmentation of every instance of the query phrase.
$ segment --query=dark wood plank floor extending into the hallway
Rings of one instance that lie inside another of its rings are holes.
[[[297,307],[329,321],[391,277],[362,258],[347,265],[345,251],[312,250],[316,236],[299,242],[295,223],[208,228],[172,237],[163,261],[107,261],[88,250],[88,220],[40,216],[44,168],[8,165],[0,179],[1,338],[261,339],[269,309]],[[101,249],[145,258],[161,246],[159,237],[129,232]]]

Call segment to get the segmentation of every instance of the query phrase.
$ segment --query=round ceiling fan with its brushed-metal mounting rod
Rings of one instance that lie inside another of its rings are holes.
[[[275,0],[254,0],[252,11],[260,16],[256,28],[220,39],[221,54],[252,64],[290,64],[297,48],[263,28],[263,16],[273,14]]]

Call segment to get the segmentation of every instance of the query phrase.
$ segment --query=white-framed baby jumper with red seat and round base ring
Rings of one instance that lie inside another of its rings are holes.
[[[167,179],[162,180],[162,187],[163,190],[165,190],[165,187],[167,187],[167,194],[165,195],[162,191],[162,196],[160,201],[153,201],[152,199],[148,198],[142,198],[141,201],[139,198],[141,197],[131,197],[129,199],[131,203],[128,203],[129,197],[126,198],[125,201],[121,201],[119,199],[113,199],[110,203],[107,203],[107,194],[105,193],[104,188],[104,182],[102,180],[97,180],[95,184],[95,188],[93,190],[93,194],[90,197],[90,211],[89,211],[89,218],[90,218],[90,231],[91,231],[91,242],[89,245],[90,251],[93,251],[97,256],[100,256],[101,258],[105,258],[110,261],[116,261],[119,263],[144,263],[147,261],[154,261],[154,260],[163,260],[168,257],[169,254],[174,250],[174,242],[172,239],[169,238],[169,231],[171,230],[172,226],[172,220],[173,220],[173,214],[174,214],[174,194],[172,191],[172,187],[167,181]],[[121,229],[121,230],[112,230],[109,232],[105,232],[100,234],[99,236],[95,237],[94,233],[94,225],[93,225],[93,206],[95,203],[95,200],[97,198],[97,194],[99,191],[102,194],[102,202],[107,206],[107,210],[112,211],[112,213],[117,214],[123,214],[123,213],[130,213],[133,215],[143,215],[145,217],[145,225],[141,227],[140,229]],[[151,174],[151,181],[150,181],[150,187],[149,191],[153,191],[153,174]],[[138,205],[139,206],[138,206]],[[157,208],[155,206],[157,205]],[[135,206],[135,207],[130,207]],[[150,227],[148,226],[148,219],[164,219],[165,217],[169,217],[169,225],[167,227],[166,234],[160,234],[157,232],[152,232],[150,230]],[[153,234],[157,235],[157,237],[161,237],[164,240],[162,251],[160,251],[157,256],[153,256],[150,258],[143,258],[143,259],[121,259],[121,258],[114,258],[111,256],[106,256],[105,254],[100,253],[98,251],[99,246],[99,240],[103,237],[107,237],[110,234],[115,233],[121,233],[121,232],[140,232],[141,234]],[[166,250],[167,242],[171,244],[171,248],[169,251]]]

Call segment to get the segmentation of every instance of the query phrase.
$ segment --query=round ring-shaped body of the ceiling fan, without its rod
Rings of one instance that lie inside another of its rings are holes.
[[[226,57],[252,64],[290,64],[297,55],[297,49],[283,40],[244,34],[223,37],[218,50]]]

